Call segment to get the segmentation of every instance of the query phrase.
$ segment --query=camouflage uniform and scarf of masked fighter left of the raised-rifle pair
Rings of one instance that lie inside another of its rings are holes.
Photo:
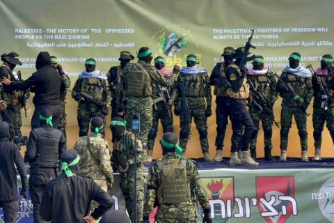
[[[207,75],[207,70],[205,70],[205,68],[200,68],[198,66],[191,68],[193,68],[196,73],[191,74],[188,72],[189,67],[182,67],[180,75],[177,77],[177,85],[182,83],[184,84],[184,95],[188,100],[189,107],[189,121],[191,123],[193,118],[193,121],[196,124],[198,133],[200,134],[200,146],[202,148],[202,153],[208,153],[209,142],[207,141],[206,109],[211,109],[211,86],[209,76]],[[176,92],[178,97],[180,97],[179,88],[175,88],[173,91]],[[175,95],[175,93],[173,93],[173,95]],[[175,107],[184,106],[182,105],[182,102],[178,105],[180,98],[177,100],[177,105],[175,105]],[[186,123],[184,113],[180,114],[180,128],[180,146],[185,151],[190,129],[188,123]]]

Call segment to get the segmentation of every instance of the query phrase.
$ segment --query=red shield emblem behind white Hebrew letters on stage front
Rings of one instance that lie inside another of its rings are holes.
[[[269,223],[284,223],[291,214],[297,215],[294,176],[257,177],[256,198],[261,216]]]

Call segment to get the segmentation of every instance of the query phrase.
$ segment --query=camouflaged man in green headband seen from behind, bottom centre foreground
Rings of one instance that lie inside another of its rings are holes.
[[[151,163],[145,192],[143,223],[158,206],[157,222],[196,222],[195,202],[203,208],[203,223],[211,223],[211,206],[202,186],[195,164],[182,156],[177,135],[166,132],[160,140],[162,159]],[[196,197],[195,197],[196,196]],[[157,199],[156,199],[157,198]]]

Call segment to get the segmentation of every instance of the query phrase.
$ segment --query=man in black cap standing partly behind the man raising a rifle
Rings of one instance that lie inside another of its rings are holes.
[[[226,125],[228,125],[228,116],[230,115],[229,97],[226,93],[228,87],[225,75],[225,69],[233,63],[234,49],[233,47],[225,47],[223,54],[224,61],[217,63],[212,70],[210,76],[210,84],[214,86],[214,95],[216,95],[216,123],[217,123],[217,136],[215,141],[216,156],[214,162],[220,162],[223,160],[223,143],[225,139]]]

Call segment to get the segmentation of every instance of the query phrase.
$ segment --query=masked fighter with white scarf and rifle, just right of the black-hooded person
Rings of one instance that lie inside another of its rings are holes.
[[[84,137],[88,134],[89,123],[95,116],[101,117],[103,125],[106,125],[106,116],[109,113],[109,106],[111,104],[111,93],[107,77],[100,70],[96,70],[95,59],[88,58],[85,62],[85,68],[86,70],[81,72],[72,90],[72,98],[79,103],[77,109],[79,137]],[[82,93],[100,102],[103,107],[85,100],[81,95]],[[105,135],[104,130],[101,134]]]

